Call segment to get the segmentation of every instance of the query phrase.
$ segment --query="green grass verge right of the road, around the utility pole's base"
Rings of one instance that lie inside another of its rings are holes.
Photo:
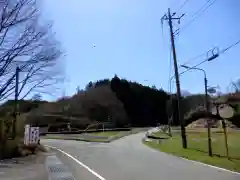
[[[174,133],[170,139],[161,140],[159,144],[157,141],[144,143],[166,153],[240,172],[240,132],[228,132],[230,159],[226,157],[223,133],[212,133],[213,157],[208,156],[206,132],[187,132],[187,140],[188,149],[182,148],[179,133]]]

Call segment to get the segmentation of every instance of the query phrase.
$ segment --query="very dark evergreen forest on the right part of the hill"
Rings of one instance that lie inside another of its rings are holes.
[[[130,124],[137,126],[166,124],[168,121],[166,102],[168,95],[163,90],[129,82],[115,76],[111,90],[123,103]]]

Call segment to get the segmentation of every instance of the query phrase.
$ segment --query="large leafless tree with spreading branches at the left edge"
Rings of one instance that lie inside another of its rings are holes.
[[[0,100],[14,94],[17,67],[20,98],[32,91],[49,93],[59,83],[62,53],[50,29],[36,0],[0,2]]]

